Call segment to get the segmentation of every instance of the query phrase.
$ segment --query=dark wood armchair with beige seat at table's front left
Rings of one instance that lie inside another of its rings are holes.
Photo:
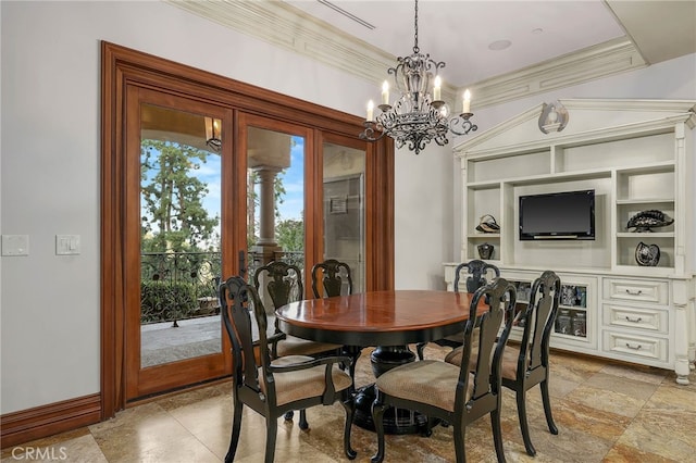
[[[256,288],[248,286],[240,277],[231,277],[220,285],[219,295],[222,318],[233,351],[234,414],[225,462],[234,461],[244,406],[249,406],[265,417],[264,461],[272,463],[278,417],[288,411],[332,405],[336,401],[340,401],[346,411],[344,451],[348,459],[355,459],[357,453],[350,447],[355,415],[352,378],[338,368],[341,362],[348,362],[349,359],[287,355],[272,360],[266,339],[265,309]],[[251,326],[254,323],[259,328],[259,342],[251,338]]]

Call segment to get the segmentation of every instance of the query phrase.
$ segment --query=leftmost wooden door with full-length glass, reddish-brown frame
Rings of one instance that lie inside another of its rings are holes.
[[[126,401],[231,373],[216,288],[236,264],[223,247],[245,233],[245,198],[224,195],[232,121],[224,107],[126,89]]]

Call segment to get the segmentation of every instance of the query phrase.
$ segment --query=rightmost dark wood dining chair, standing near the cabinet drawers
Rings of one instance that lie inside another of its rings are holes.
[[[512,389],[518,404],[520,429],[526,453],[536,454],[530,437],[530,426],[526,420],[526,391],[539,385],[546,424],[551,434],[557,435],[558,428],[554,423],[551,401],[548,393],[549,376],[549,342],[558,305],[560,301],[561,280],[551,271],[546,271],[532,284],[530,303],[523,312],[518,314],[519,325],[524,326],[522,341],[510,343],[502,356],[502,386]],[[450,352],[445,361],[459,365],[462,361],[461,348]],[[470,367],[473,367],[470,361]]]

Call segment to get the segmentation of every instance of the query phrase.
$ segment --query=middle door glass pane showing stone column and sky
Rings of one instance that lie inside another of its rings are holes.
[[[247,243],[249,277],[272,261],[304,268],[304,138],[248,129]],[[263,286],[264,281],[260,281]],[[269,316],[273,304],[259,291]],[[273,324],[269,323],[272,328]]]

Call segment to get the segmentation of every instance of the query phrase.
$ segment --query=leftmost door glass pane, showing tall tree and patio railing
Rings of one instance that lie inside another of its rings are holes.
[[[222,351],[220,127],[141,107],[141,367]]]

